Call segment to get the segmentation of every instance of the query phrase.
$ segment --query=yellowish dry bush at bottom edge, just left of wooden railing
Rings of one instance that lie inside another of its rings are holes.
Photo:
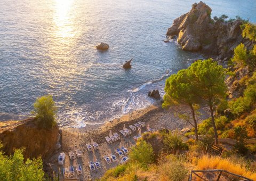
[[[188,169],[184,163],[184,160],[174,155],[169,155],[165,160],[162,160],[159,164],[159,173],[162,180],[184,180],[188,176]]]

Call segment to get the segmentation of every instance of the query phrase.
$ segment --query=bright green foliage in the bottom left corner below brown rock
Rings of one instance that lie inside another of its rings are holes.
[[[10,157],[0,152],[0,180],[44,180],[42,159],[27,159],[24,162],[22,152],[23,149],[15,150]]]

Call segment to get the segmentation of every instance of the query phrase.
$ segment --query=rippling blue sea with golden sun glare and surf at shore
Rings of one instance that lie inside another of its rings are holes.
[[[256,22],[256,1],[207,0],[212,16]],[[172,21],[194,1],[0,1],[0,113],[30,114],[52,94],[61,127],[113,119],[163,95],[165,79],[202,57],[163,43]],[[95,50],[108,43],[106,52]],[[122,64],[133,57],[132,69]]]

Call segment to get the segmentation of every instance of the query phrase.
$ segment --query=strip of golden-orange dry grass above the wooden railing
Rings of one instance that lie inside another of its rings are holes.
[[[210,157],[208,155],[203,155],[201,159],[198,160],[198,169],[222,169],[232,172],[234,174],[242,175],[248,177],[252,180],[256,180],[256,173],[246,170],[245,164],[235,164],[230,159],[222,159],[220,157]]]

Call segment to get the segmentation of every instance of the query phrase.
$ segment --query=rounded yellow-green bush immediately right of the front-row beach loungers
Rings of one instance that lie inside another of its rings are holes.
[[[143,140],[131,148],[129,155],[132,161],[138,161],[143,167],[154,161],[153,147]]]

